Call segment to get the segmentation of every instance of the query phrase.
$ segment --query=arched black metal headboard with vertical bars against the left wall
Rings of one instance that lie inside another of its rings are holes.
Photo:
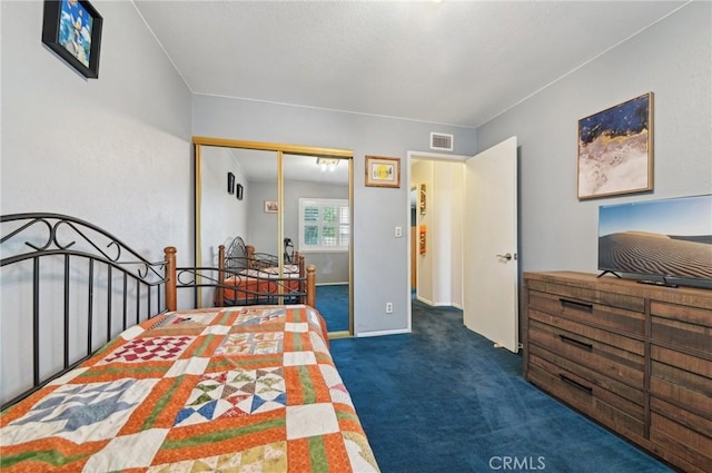
[[[1,408],[166,311],[165,263],[88,221],[1,217]]]

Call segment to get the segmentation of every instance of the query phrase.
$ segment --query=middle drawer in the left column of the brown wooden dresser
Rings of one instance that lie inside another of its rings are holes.
[[[642,388],[645,344],[530,311],[530,345],[538,345],[612,380]],[[530,346],[530,351],[532,346]]]

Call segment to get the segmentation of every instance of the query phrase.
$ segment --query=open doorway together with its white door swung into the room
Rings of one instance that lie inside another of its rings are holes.
[[[459,157],[448,173],[441,162],[453,156],[408,152],[411,187],[418,181],[427,186],[418,238],[411,240],[412,246],[425,240],[425,254],[421,248],[415,265],[416,297],[429,305],[459,304],[468,328],[514,353],[520,348],[517,155],[512,137],[474,157]],[[452,242],[448,231],[455,236]],[[443,250],[448,244],[457,256]],[[428,256],[431,252],[435,255]]]

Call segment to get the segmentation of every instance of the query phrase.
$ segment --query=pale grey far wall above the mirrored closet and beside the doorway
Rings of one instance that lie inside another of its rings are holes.
[[[474,155],[474,130],[250,100],[196,96],[196,136],[280,142],[354,151],[354,332],[376,335],[408,329],[411,284],[408,150],[429,151],[432,131],[455,136],[454,154]],[[400,158],[400,188],[366,187],[365,156]],[[387,302],[393,314],[385,313]]]

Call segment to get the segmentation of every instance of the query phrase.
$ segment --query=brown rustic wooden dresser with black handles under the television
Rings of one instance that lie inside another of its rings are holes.
[[[712,465],[712,290],[524,274],[524,376],[685,472]]]

